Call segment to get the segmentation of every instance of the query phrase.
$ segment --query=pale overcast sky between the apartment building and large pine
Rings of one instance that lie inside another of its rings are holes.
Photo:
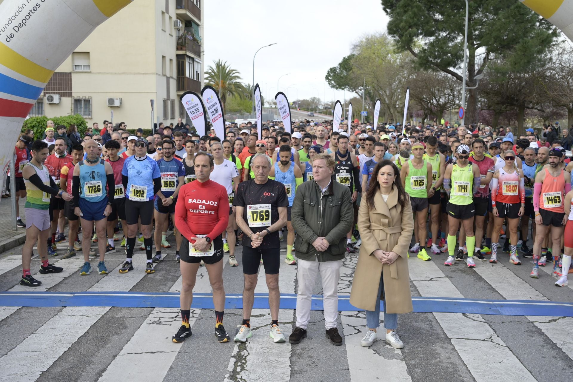
[[[386,31],[388,17],[379,0],[208,0],[204,2],[205,69],[221,59],[237,69],[243,82],[254,82],[263,97],[279,88],[289,101],[318,96],[343,100],[324,76],[350,53],[364,34]],[[293,85],[293,86],[290,86]],[[286,88],[288,93],[286,92]],[[350,99],[355,94],[346,94]]]

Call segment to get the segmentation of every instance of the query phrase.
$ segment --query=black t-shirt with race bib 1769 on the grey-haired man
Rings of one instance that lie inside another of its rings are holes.
[[[288,207],[284,184],[269,179],[265,184],[257,184],[254,179],[239,183],[233,206],[244,207],[243,219],[254,233],[264,231],[278,221],[278,207]],[[251,247],[245,234],[243,245]],[[280,248],[278,231],[266,235],[260,248]]]

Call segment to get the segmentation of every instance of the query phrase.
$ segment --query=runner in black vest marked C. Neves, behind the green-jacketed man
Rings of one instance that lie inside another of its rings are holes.
[[[372,144],[372,147],[374,147],[374,143],[370,143]],[[348,136],[346,133],[340,134],[338,137],[338,149],[330,156],[336,163],[332,179],[344,186],[348,186],[352,194],[352,203],[354,203],[354,222],[350,232],[346,235],[346,250],[348,253],[355,253],[356,248],[352,243],[352,231],[358,218],[358,204],[356,204],[356,199],[358,198],[358,192],[362,192],[362,183],[360,182],[358,158],[353,152],[348,150]]]

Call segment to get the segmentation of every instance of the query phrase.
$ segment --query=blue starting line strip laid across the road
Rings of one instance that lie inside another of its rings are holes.
[[[413,297],[414,312],[477,313],[502,316],[573,317],[573,302],[533,300],[476,300],[454,297]],[[179,308],[179,293],[141,292],[1,292],[0,306],[117,306],[120,308]],[[193,309],[214,309],[213,295],[195,293]],[[255,293],[253,308],[269,309],[268,294]],[[296,308],[296,294],[281,293],[281,309]],[[242,309],[241,294],[226,294],[225,309]],[[320,295],[312,296],[312,310],[323,310]],[[382,309],[382,306],[380,307]],[[359,311],[350,296],[339,296],[338,310]]]

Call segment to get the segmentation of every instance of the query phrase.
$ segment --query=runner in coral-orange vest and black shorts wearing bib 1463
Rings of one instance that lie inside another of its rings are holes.
[[[533,185],[533,209],[535,210],[536,233],[533,242],[533,270],[530,277],[539,278],[541,243],[551,230],[553,248],[558,251],[563,237],[563,225],[567,221],[563,208],[564,195],[571,191],[571,178],[560,168],[563,153],[558,148],[549,152],[549,167],[535,176]],[[550,227],[551,226],[551,229]],[[559,256],[553,256],[555,264]]]

